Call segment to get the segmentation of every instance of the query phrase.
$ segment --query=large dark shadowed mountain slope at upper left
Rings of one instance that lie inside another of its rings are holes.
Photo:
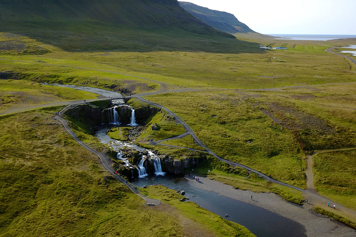
[[[176,49],[181,38],[235,39],[177,0],[0,0],[0,25],[1,32],[65,50]]]

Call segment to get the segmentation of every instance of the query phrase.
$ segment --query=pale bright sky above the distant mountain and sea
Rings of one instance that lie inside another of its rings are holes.
[[[184,0],[229,12],[262,34],[356,35],[356,0]]]

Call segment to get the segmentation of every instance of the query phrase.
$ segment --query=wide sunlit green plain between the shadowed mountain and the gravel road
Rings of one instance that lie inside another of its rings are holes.
[[[14,36],[7,38],[14,40]],[[262,40],[270,39],[261,38],[260,43]],[[94,87],[114,84],[117,89],[129,88],[134,93],[162,88],[159,82],[174,88],[241,89],[354,81],[354,66],[345,58],[326,52],[324,49],[330,48],[329,45],[288,42],[269,43],[287,46],[287,50],[264,50],[258,49],[258,45],[240,44],[235,51],[221,53],[178,48],[150,52],[66,52],[56,48],[41,55],[1,53],[5,60],[0,61],[0,70],[12,70],[22,73],[23,78],[37,81]]]

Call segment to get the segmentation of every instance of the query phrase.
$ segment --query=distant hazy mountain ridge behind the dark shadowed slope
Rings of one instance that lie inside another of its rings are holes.
[[[210,10],[209,8],[198,6],[190,2],[179,2],[179,5],[193,16],[220,31],[225,31],[230,34],[256,33],[230,13]]]

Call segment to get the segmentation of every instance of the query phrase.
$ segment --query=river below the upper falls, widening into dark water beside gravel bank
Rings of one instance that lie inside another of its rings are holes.
[[[109,144],[113,141],[113,139],[106,135],[105,131],[107,129],[108,128],[100,129],[95,134],[95,136],[104,144]],[[127,142],[120,142],[120,144],[120,146],[115,146],[113,148],[115,150],[120,150],[120,147],[129,146],[139,151],[144,150],[142,147]],[[189,201],[196,202],[199,206],[214,212],[226,220],[245,226],[258,237],[306,236],[304,226],[296,221],[290,220],[256,205],[228,198],[215,192],[208,192],[206,190],[196,188],[188,182],[187,178],[183,176],[172,174],[156,176],[154,174],[149,174],[144,178],[136,178],[131,181],[131,183],[137,187],[162,184],[177,191],[184,190],[185,196],[190,199]],[[228,185],[226,185],[226,187],[227,186]],[[225,214],[227,214],[228,217],[225,217]]]

